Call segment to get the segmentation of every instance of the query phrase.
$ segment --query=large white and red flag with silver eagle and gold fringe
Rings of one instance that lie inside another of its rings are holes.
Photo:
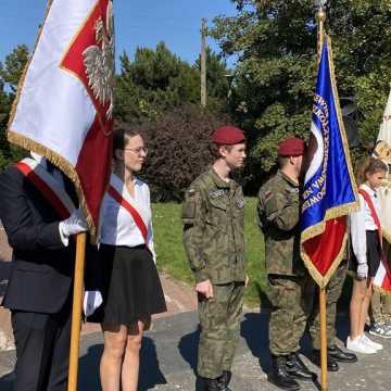
[[[73,180],[94,238],[111,168],[113,2],[49,3],[8,138],[46,156]]]

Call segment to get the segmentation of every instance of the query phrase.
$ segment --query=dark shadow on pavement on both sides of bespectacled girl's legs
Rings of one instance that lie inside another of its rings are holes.
[[[100,390],[99,363],[103,352],[103,344],[89,346],[86,355],[79,360],[79,390]],[[156,384],[167,383],[160,370],[155,344],[152,339],[144,337],[140,352],[139,391],[153,389]],[[0,390],[3,391],[0,380]],[[11,390],[11,389],[10,389]],[[4,391],[8,391],[4,389]]]

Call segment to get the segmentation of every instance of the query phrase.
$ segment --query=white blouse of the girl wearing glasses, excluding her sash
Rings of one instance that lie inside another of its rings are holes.
[[[104,195],[101,227],[100,243],[136,247],[147,244],[156,262],[156,255],[153,245],[152,230],[152,211],[150,190],[146,182],[135,178],[135,195],[131,197],[125,184],[115,174],[111,175],[110,184],[118,191],[118,193],[137,210],[141,216],[146,227],[148,228],[147,243],[141,235],[140,229],[136,225],[131,214],[118,204],[108,192]]]

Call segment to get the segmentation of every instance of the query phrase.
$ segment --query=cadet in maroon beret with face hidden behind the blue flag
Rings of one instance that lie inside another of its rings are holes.
[[[300,257],[299,231],[299,178],[304,147],[298,138],[278,144],[280,169],[260,189],[257,206],[273,304],[268,380],[286,390],[300,389],[293,377],[312,380],[314,376],[298,355],[307,320],[304,288],[308,276]]]

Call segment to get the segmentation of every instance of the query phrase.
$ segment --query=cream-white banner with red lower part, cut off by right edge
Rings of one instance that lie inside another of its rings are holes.
[[[374,286],[380,291],[391,292],[391,92],[380,125],[374,156],[388,165],[383,185],[377,190],[380,202],[383,258],[376,273]]]

